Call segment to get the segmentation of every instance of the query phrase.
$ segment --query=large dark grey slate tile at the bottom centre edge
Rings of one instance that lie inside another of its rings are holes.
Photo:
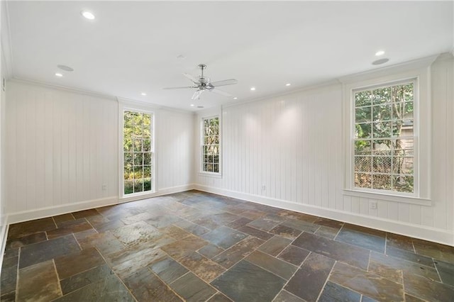
[[[211,284],[233,301],[272,301],[285,281],[243,260]]]

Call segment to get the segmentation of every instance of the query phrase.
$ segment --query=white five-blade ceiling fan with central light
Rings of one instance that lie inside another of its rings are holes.
[[[201,69],[201,75],[199,77],[194,77],[191,74],[183,74],[184,77],[187,77],[194,84],[194,86],[167,87],[164,89],[196,88],[197,90],[192,95],[193,100],[198,99],[204,91],[210,91],[215,94],[220,94],[221,96],[233,97],[228,92],[217,89],[217,87],[236,84],[238,83],[236,79],[224,79],[223,81],[210,82],[209,77],[204,77],[206,65],[199,64],[199,67]]]

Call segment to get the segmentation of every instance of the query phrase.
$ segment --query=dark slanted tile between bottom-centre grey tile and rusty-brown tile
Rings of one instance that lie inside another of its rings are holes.
[[[306,301],[316,301],[334,262],[333,259],[323,255],[311,253],[284,289]]]

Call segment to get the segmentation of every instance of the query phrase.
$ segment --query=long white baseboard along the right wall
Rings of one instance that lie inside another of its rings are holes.
[[[450,232],[449,230],[430,228],[425,227],[423,225],[414,225],[411,223],[403,223],[400,221],[378,218],[373,216],[364,216],[357,213],[333,210],[331,208],[320,208],[318,206],[311,206],[307,204],[295,203],[292,201],[284,201],[282,199],[258,196],[253,194],[246,194],[238,191],[219,189],[211,186],[202,186],[199,184],[196,184],[194,186],[194,189],[219,194],[223,196],[243,199],[245,201],[261,203],[267,206],[274,206],[286,210],[306,213],[314,216],[321,216],[323,218],[339,220],[345,223],[352,223],[367,228],[374,228],[376,230],[384,230],[389,233],[396,233],[432,242],[438,242],[442,243],[443,245],[454,246],[454,233]]]

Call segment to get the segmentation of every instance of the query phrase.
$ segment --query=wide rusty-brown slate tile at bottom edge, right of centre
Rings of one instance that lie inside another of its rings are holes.
[[[404,301],[402,284],[342,262],[336,262],[329,281],[378,301]]]

